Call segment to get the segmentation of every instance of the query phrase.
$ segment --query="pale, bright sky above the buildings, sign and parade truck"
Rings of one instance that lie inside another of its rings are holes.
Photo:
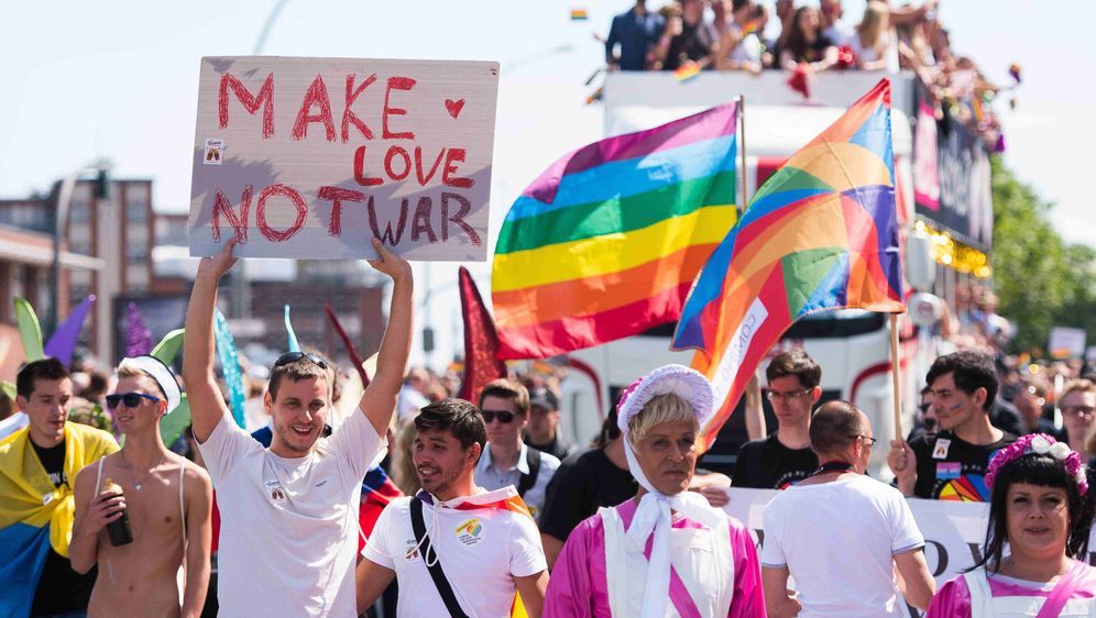
[[[864,2],[845,4],[856,19]],[[8,5],[0,23],[0,197],[46,190],[106,155],[117,175],[154,179],[158,210],[185,210],[199,58],[251,54],[273,7],[209,0]],[[572,7],[587,8],[590,21],[571,22]],[[590,89],[582,81],[602,59],[592,34],[604,34],[612,14],[628,7],[624,0],[291,0],[263,52],[501,62],[497,221],[544,167],[601,136],[601,109],[583,104]],[[956,51],[990,78],[1006,81],[1009,64],[1021,64],[1019,107],[1006,118],[1007,162],[1057,202],[1054,223],[1067,240],[1096,245],[1090,183],[1082,170],[1096,143],[1096,47],[1087,41],[1096,4],[1070,3],[1067,15],[1064,7],[942,0],[939,14]],[[450,269],[432,280],[448,282]],[[486,294],[486,266],[473,272]],[[443,305],[435,320],[448,324],[452,304]],[[439,329],[439,343],[451,331]]]

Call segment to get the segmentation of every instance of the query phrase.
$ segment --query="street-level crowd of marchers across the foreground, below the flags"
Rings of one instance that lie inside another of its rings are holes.
[[[183,388],[156,357],[125,358],[106,380],[108,430],[74,420],[86,419],[74,415],[75,380],[59,361],[20,369],[22,422],[0,440],[4,615],[1096,610],[1086,562],[1096,382],[1084,367],[1057,386],[1030,367],[1017,380],[984,351],[940,356],[918,427],[889,442],[894,482],[884,483],[866,474],[880,440],[868,417],[848,401],[820,405],[824,367],[785,352],[765,376],[776,431],[745,444],[727,477],[698,465],[715,402],[688,367],[636,379],[587,449],[559,430],[558,367],[530,365],[471,401],[443,378],[405,371],[410,268],[377,245],[371,263],[393,280],[391,319],[358,405],[337,419],[347,391],[338,367],[288,352],[262,388],[267,423],[249,431],[213,371],[213,308],[232,245],[204,258],[195,280],[182,454],[164,444],[161,420]],[[975,330],[995,322],[982,309]],[[765,509],[760,549],[722,510],[728,487],[781,490]],[[974,570],[938,589],[907,497],[989,503]]]

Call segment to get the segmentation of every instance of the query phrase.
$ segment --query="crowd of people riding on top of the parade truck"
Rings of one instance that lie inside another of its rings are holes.
[[[939,0],[917,7],[868,0],[857,22],[846,18],[841,0],[818,5],[777,0],[771,16],[759,0],[675,0],[658,9],[637,0],[613,19],[605,62],[610,70],[800,73],[804,91],[802,80],[821,71],[908,70],[923,86],[936,120],[958,121],[988,147],[1002,150],[991,102],[1016,84],[995,84],[969,56],[955,53],[938,5]],[[778,27],[769,29],[770,20]],[[1018,82],[1019,67],[1010,71]]]

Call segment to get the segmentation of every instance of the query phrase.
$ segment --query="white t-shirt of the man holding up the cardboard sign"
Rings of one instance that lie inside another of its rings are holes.
[[[221,512],[220,616],[357,616],[362,478],[381,437],[360,411],[305,457],[280,457],[231,419],[198,445]]]

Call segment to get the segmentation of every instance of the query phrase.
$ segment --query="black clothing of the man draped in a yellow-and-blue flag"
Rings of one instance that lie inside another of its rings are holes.
[[[31,445],[34,446],[34,452],[54,486],[61,487],[66,484],[72,486],[65,474],[65,443],[43,449],[32,440]],[[91,588],[95,587],[95,567],[87,575],[80,575],[73,571],[67,558],[50,548],[39,587],[34,591],[31,616],[87,609],[88,600],[91,599]]]

